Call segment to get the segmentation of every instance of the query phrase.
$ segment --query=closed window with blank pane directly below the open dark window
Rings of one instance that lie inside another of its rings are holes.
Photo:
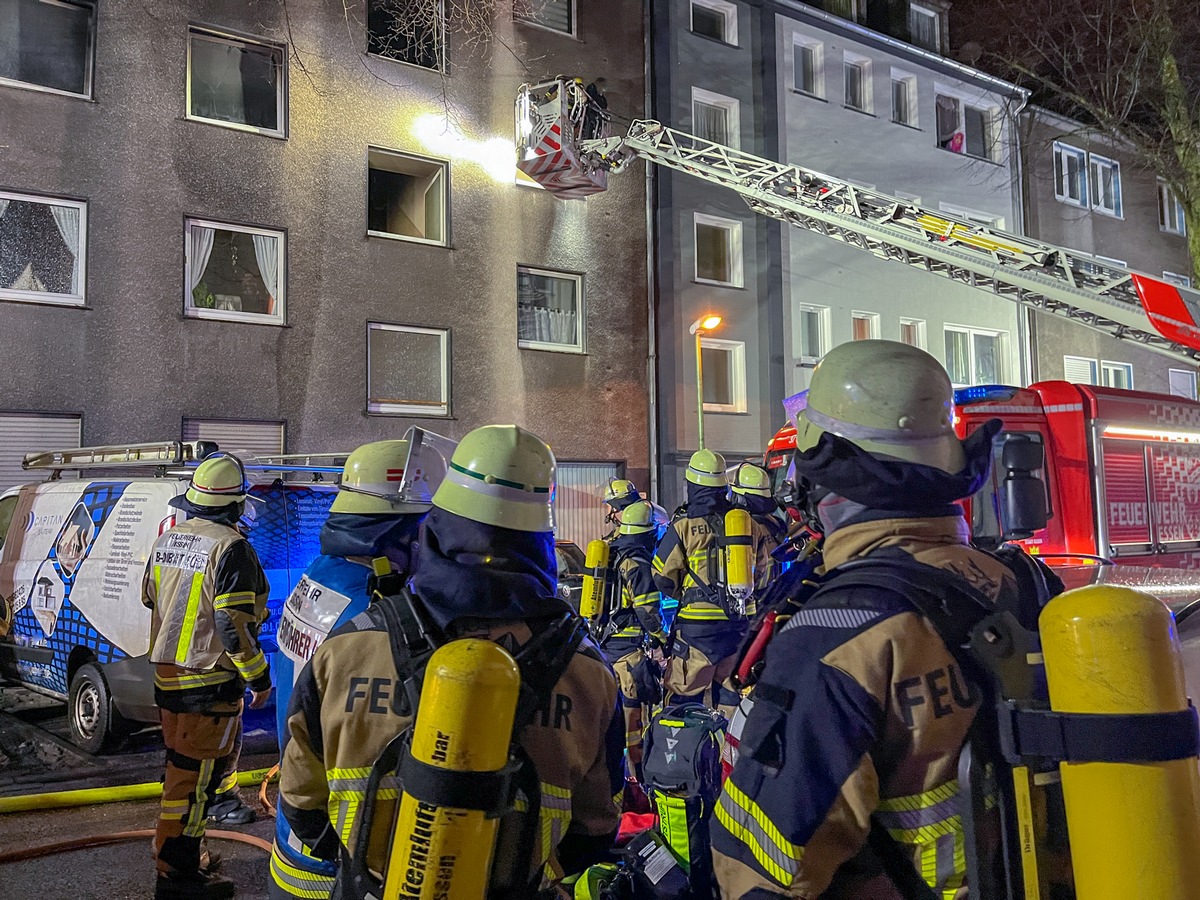
[[[450,331],[367,323],[367,412],[450,415]]]

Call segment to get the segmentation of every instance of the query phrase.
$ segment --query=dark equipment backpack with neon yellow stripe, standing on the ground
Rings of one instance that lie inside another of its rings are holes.
[[[695,896],[713,896],[708,821],[721,792],[725,716],[701,703],[660,712],[646,730],[642,767],[659,832],[688,872]]]

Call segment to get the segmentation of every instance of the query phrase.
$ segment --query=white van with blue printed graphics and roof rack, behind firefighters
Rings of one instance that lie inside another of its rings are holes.
[[[84,750],[158,721],[142,576],[158,535],[186,517],[169,503],[187,490],[188,467],[215,450],[164,442],[30,454],[25,468],[48,480],[0,493],[0,674],[65,700]],[[274,653],[283,601],[319,552],[344,455],[328,455],[329,466],[238,455],[252,482],[242,527],[270,582],[259,641]],[[72,472],[80,478],[61,478]],[[295,472],[306,480],[284,480]]]

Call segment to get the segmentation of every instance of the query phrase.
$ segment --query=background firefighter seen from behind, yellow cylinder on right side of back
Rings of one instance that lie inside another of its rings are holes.
[[[654,553],[659,588],[679,601],[666,662],[664,702],[670,706],[697,701],[728,716],[738,697],[725,682],[733,672],[746,618],[731,604],[722,582],[720,539],[725,514],[731,509],[725,457],[712,450],[697,450],[684,476],[688,502]]]

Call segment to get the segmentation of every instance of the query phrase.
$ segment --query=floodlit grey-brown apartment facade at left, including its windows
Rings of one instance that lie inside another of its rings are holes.
[[[643,180],[560,202],[512,146],[559,71],[642,108],[642,4],[491,40],[409,6],[0,4],[0,488],[50,445],[487,422],[551,443],[577,540],[606,475],[644,480]]]

